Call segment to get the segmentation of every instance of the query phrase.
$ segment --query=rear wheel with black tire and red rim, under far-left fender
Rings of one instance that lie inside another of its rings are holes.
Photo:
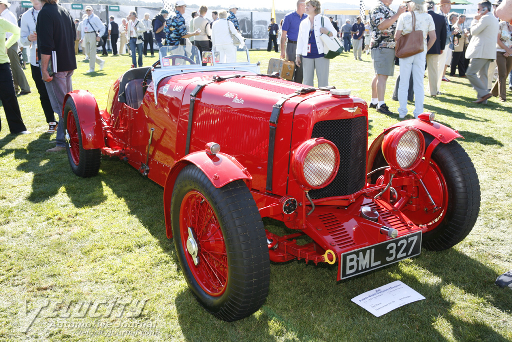
[[[94,177],[98,174],[101,163],[100,149],[86,150],[82,145],[80,120],[73,98],[70,96],[62,111],[64,132],[66,134],[66,150],[68,151],[71,170],[80,177]]]

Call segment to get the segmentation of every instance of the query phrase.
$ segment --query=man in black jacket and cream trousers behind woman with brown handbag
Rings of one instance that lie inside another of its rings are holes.
[[[430,88],[430,96],[440,95],[441,92],[437,88],[438,79],[440,75],[438,74],[438,65],[439,65],[439,55],[443,52],[444,46],[446,45],[446,25],[444,21],[444,16],[441,14],[437,14],[434,12],[434,1],[430,0],[426,2],[427,7],[429,9],[428,13],[434,19],[434,26],[436,28],[436,39],[434,45],[430,48],[429,51],[426,52],[426,68],[429,71],[429,88]],[[427,41],[429,37],[426,38]],[[441,63],[444,63],[442,61]]]

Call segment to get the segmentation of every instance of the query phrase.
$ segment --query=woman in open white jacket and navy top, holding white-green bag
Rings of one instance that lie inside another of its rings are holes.
[[[329,59],[324,57],[324,43],[320,35],[327,34],[333,36],[334,27],[328,17],[320,14],[320,2],[318,0],[306,1],[306,14],[308,17],[301,22],[298,29],[297,38],[297,58],[295,63],[301,65],[304,70],[303,83],[307,86],[313,86],[314,73],[318,79],[318,87],[329,85]],[[323,19],[323,20],[322,20]]]

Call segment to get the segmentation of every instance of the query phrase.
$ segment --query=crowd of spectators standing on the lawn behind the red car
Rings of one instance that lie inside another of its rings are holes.
[[[45,74],[42,73],[41,76],[36,53],[38,13],[50,0],[41,1],[31,0],[33,8],[20,16],[19,42],[29,46],[31,51],[32,78],[49,125],[48,132],[53,133],[58,131],[55,117],[58,112],[52,109],[52,96],[47,90]],[[329,59],[324,58],[321,34],[339,37],[343,42],[343,50],[352,50],[356,61],[362,60],[363,53],[371,54],[375,76],[371,82],[369,107],[387,115],[394,115],[385,102],[387,80],[394,76],[395,65],[399,65],[401,75],[397,78],[392,98],[399,102],[400,118],[407,115],[408,100],[415,101],[415,117],[423,111],[423,77],[428,77],[430,96],[442,95],[442,81],[450,82],[445,75],[448,67],[450,77],[455,77],[458,72],[458,77],[467,77],[470,81],[476,90],[475,103],[486,104],[492,96],[504,102],[507,87],[512,90],[512,29],[507,11],[511,7],[511,1],[505,0],[502,6],[502,0],[497,0],[494,4],[487,0],[481,1],[477,5],[477,15],[470,24],[466,24],[464,14],[451,12],[451,0],[429,0],[426,3],[424,0],[406,0],[396,12],[390,7],[393,0],[379,0],[369,11],[368,21],[357,16],[353,23],[347,19],[340,27],[333,17],[321,14],[321,3],[318,0],[298,0],[296,10],[287,13],[280,25],[275,23],[275,18],[271,18],[267,51],[281,51],[281,58],[295,63],[294,82],[313,86],[316,74],[319,87],[329,85]],[[102,23],[93,8],[86,6],[86,14],[73,22],[74,53],[78,54],[81,45],[84,61],[89,62],[89,73],[96,72],[96,65],[99,70],[104,68],[105,60],[97,56],[97,51],[101,48],[102,55],[108,54],[105,49],[108,39],[111,42],[112,54],[130,54],[135,67],[143,66],[143,55],[146,56],[148,52],[151,56],[155,55],[154,44],[158,47],[195,45],[201,54],[205,51],[218,51],[220,63],[236,61],[236,45],[244,45],[237,19],[238,7],[230,5],[228,10],[213,11],[210,19],[206,17],[208,8],[201,6],[198,12],[193,13],[187,25],[183,16],[186,6],[184,0],[176,0],[174,11],[169,13],[162,9],[153,18],[145,13],[142,20],[139,20],[137,12],[131,11],[122,19],[121,24],[117,24],[113,16],[109,18],[109,23]],[[8,7],[7,0],[0,0],[0,17],[15,24],[16,19]],[[424,50],[407,58],[395,58],[397,39],[412,30],[412,13],[416,19],[415,29],[423,32]],[[4,41],[6,47],[9,47],[8,72],[12,74],[14,94],[18,93],[19,96],[30,93],[21,65],[12,63],[14,55],[16,60],[18,56],[17,42],[12,42],[9,38],[11,35],[15,36],[15,33],[11,33],[12,28],[6,25],[4,30]],[[39,49],[39,54],[40,51]],[[22,71],[19,72],[18,68]],[[497,77],[493,86],[495,69]],[[2,87],[6,89],[5,85]],[[3,96],[10,94],[10,91],[0,92]],[[19,109],[12,108],[9,111],[9,117],[18,117]],[[20,115],[19,120],[23,123]],[[13,130],[26,131],[24,127],[19,127]]]

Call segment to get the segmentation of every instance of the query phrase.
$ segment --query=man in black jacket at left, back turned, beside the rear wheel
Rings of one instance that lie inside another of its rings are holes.
[[[41,0],[44,5],[37,17],[36,25],[42,80],[45,81],[53,111],[59,115],[60,123],[57,126],[57,144],[47,152],[66,150],[63,129],[66,123],[62,120],[62,105],[64,96],[73,90],[71,75],[76,69],[75,24],[68,10],[58,5],[57,1]],[[55,72],[52,75],[48,72],[51,59]]]

